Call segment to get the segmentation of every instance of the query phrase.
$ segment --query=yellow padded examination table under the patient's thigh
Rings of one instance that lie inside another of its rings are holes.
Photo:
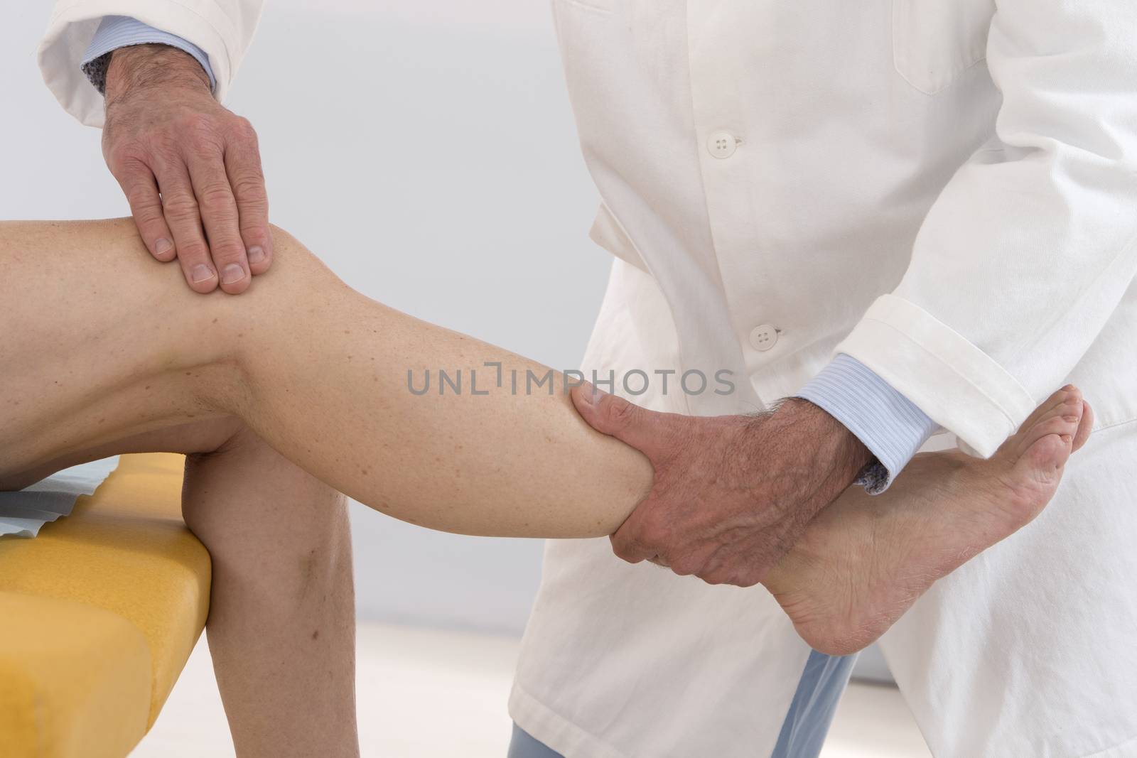
[[[182,456],[123,456],[72,515],[0,540],[0,755],[125,756],[205,626],[209,555]]]

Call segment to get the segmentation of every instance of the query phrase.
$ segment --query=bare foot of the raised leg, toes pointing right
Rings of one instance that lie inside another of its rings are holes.
[[[989,460],[922,453],[882,494],[850,488],[763,584],[814,649],[856,652],[932,582],[1037,516],[1092,425],[1081,392],[1065,386]]]

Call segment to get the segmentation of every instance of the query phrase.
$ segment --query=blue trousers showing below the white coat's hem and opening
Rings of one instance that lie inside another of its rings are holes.
[[[810,653],[770,758],[816,758],[821,753],[855,663],[855,655],[836,658],[816,651]],[[564,756],[514,724],[506,758]]]

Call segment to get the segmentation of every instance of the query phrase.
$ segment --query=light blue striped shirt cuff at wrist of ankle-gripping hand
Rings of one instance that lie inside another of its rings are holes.
[[[888,382],[845,353],[838,353],[797,397],[824,409],[877,457],[857,480],[871,494],[887,490],[939,428]]]

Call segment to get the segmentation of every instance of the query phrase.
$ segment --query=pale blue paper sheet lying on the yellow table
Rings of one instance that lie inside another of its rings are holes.
[[[33,538],[48,522],[70,514],[118,466],[118,456],[65,468],[17,492],[0,492],[0,536]]]

